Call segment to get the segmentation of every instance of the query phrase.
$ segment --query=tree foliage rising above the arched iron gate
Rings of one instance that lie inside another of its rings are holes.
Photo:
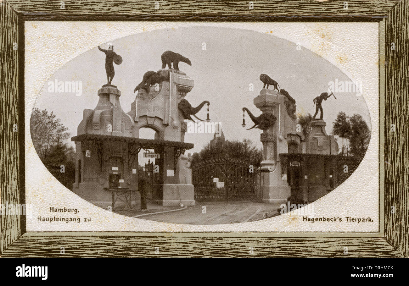
[[[263,160],[263,154],[261,150],[252,145],[252,142],[248,139],[243,141],[218,141],[214,144],[208,143],[203,147],[199,154],[195,153],[192,156],[192,165],[196,165],[201,161],[210,158],[217,158],[221,156],[227,156],[229,158],[242,159],[248,161],[255,167],[260,166]]]

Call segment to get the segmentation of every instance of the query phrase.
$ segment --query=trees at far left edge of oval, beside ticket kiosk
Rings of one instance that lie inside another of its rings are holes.
[[[53,112],[33,109],[30,132],[34,148],[47,170],[71,189],[75,181],[75,152],[64,143],[70,137],[67,130]]]

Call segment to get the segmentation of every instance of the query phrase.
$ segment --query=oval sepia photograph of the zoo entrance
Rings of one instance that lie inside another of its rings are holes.
[[[342,188],[371,140],[362,93],[323,55],[271,34],[157,29],[96,42],[55,71],[30,134],[49,173],[104,210],[244,223]]]

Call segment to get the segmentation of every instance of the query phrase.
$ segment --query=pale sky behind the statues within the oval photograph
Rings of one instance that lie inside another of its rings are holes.
[[[171,50],[191,60],[192,66],[179,63],[179,68],[194,80],[194,87],[186,99],[193,106],[204,100],[210,101],[211,121],[221,123],[226,140],[250,139],[254,145],[262,147],[261,130],[245,130],[241,126],[242,107],[249,108],[255,116],[261,114],[253,104],[263,87],[260,74],[268,74],[289,92],[296,100],[297,113],[314,114],[312,100],[328,89],[328,82],[350,81],[337,67],[312,51],[272,35],[256,31],[223,27],[180,27],[160,29],[117,40],[112,40],[114,51],[121,55],[123,63],[114,65],[113,85],[121,91],[121,107],[130,111],[135,100],[133,89],[148,70],[161,68],[161,54]],[[203,43],[206,49],[203,50]],[[95,48],[74,58],[55,72],[49,81],[81,81],[82,95],[48,93],[47,83],[43,87],[35,107],[53,111],[63,125],[69,128],[71,136],[76,135],[82,120],[83,109],[94,109],[98,103],[97,91],[106,84],[105,55],[97,45],[107,49],[107,43],[95,43]],[[66,51],[70,53],[69,50]],[[364,64],[364,63],[362,63]],[[249,84],[254,91],[249,91]],[[272,89],[272,87],[270,87]],[[352,116],[361,114],[371,127],[369,110],[362,96],[355,93],[335,93],[323,102],[324,121],[329,134],[338,112]],[[206,118],[206,106],[197,114]],[[246,128],[252,126],[246,113]],[[144,135],[145,134],[145,135]],[[141,137],[146,132],[141,132]],[[213,134],[188,134],[185,142],[193,143],[200,152]],[[73,143],[72,143],[73,144]]]

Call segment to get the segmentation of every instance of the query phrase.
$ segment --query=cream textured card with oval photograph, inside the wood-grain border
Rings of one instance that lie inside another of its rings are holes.
[[[27,231],[383,232],[378,22],[24,29]]]

